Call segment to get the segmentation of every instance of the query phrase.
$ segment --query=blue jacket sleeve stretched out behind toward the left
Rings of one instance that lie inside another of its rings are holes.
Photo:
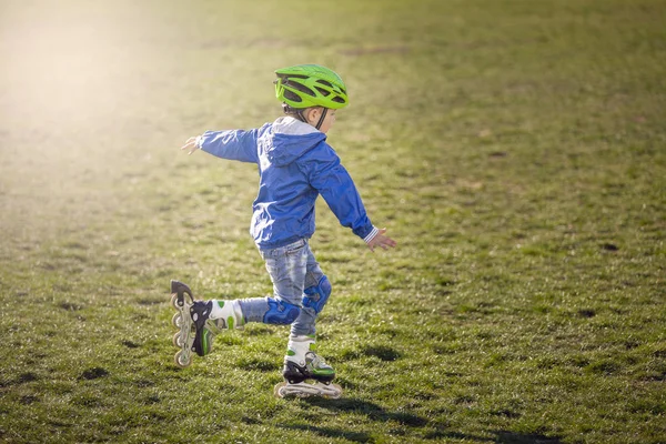
[[[206,131],[196,141],[199,148],[218,158],[258,163],[259,129],[249,131]]]

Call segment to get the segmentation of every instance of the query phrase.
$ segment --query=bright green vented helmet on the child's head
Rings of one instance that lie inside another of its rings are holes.
[[[297,64],[279,69],[275,74],[275,97],[291,108],[324,107],[337,110],[350,103],[344,82],[329,68]]]

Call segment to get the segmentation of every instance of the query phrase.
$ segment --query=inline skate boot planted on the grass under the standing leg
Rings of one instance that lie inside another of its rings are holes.
[[[275,395],[323,396],[339,398],[342,387],[331,384],[335,371],[314,352],[314,336],[296,336],[289,341],[282,376],[285,382],[275,385]],[[309,383],[306,381],[313,381]]]

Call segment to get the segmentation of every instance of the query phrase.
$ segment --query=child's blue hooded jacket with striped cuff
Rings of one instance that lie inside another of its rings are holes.
[[[261,250],[311,238],[320,194],[354,234],[369,240],[376,233],[326,134],[306,123],[283,117],[249,131],[206,131],[198,144],[219,158],[259,165],[250,233]]]

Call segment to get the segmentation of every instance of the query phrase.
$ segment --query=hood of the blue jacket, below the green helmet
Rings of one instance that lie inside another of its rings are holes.
[[[283,117],[273,122],[272,131],[268,131],[264,138],[269,139],[269,143],[264,144],[269,161],[284,167],[326,140],[326,134],[292,117]]]

